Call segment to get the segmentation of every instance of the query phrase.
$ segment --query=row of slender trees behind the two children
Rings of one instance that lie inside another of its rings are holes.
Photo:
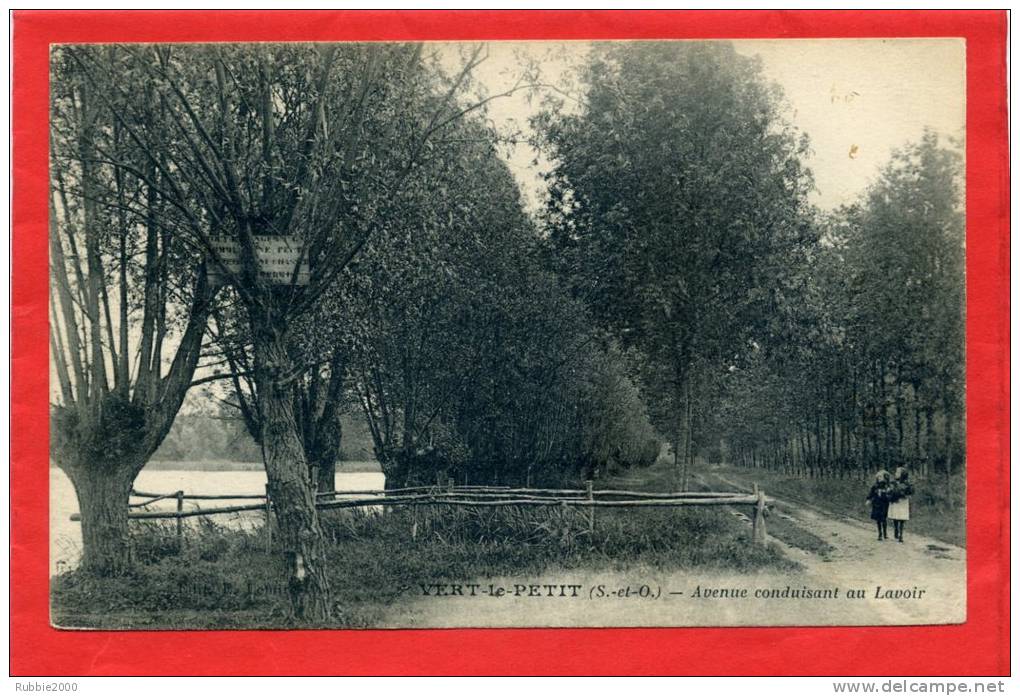
[[[964,464],[963,168],[925,133],[789,269],[788,326],[719,385],[727,458],[807,477]],[[722,456],[719,453],[719,456]]]

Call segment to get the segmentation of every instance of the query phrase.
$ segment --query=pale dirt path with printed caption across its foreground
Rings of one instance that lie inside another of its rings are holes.
[[[713,474],[705,482],[714,490],[747,488],[743,482]],[[743,515],[738,510],[733,513]],[[802,565],[803,570],[793,574],[607,567],[529,578],[464,579],[459,589],[410,589],[390,608],[384,624],[874,626],[965,620],[964,549],[910,534],[909,523],[905,543],[878,542],[864,520],[795,501],[776,500],[772,514],[810,531],[829,548],[812,553],[771,539]],[[848,596],[850,591],[863,596]]]

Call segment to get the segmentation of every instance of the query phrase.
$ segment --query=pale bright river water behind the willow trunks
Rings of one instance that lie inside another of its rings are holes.
[[[338,491],[382,490],[385,478],[379,471],[340,471]],[[265,471],[185,471],[143,470],[135,481],[135,489],[146,493],[185,493],[209,495],[248,495],[265,492]],[[132,498],[132,502],[141,502]],[[186,500],[185,509],[257,503],[257,500]],[[148,509],[172,510],[176,500],[161,500]],[[71,521],[78,512],[78,498],[66,475],[50,467],[50,574],[63,573],[78,564],[82,553],[82,527]],[[233,526],[258,525],[265,518],[262,512],[223,514],[209,517]]]

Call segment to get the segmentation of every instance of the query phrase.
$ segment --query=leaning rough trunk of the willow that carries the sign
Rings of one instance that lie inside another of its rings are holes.
[[[283,336],[254,329],[262,456],[290,571],[291,608],[297,618],[322,622],[330,617],[333,605],[314,491],[285,382],[291,360]]]

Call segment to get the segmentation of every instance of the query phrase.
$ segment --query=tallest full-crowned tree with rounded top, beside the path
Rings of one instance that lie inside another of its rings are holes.
[[[578,108],[536,121],[551,244],[604,326],[659,365],[649,392],[685,485],[696,365],[748,353],[811,235],[807,141],[730,44],[598,45],[580,78]]]

